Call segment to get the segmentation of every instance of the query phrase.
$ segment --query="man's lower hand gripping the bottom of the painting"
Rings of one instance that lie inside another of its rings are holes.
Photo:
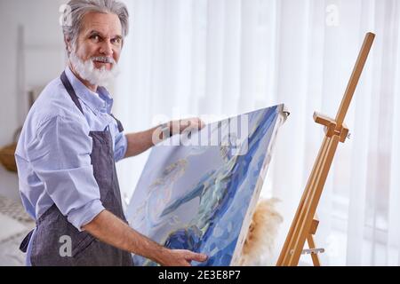
[[[204,262],[208,256],[185,249],[165,248],[157,262],[163,266],[191,266],[192,261]]]

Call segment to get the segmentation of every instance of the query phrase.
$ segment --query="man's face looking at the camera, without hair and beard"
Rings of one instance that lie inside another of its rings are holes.
[[[116,14],[90,12],[84,15],[82,28],[76,41],[76,55],[87,61],[93,57],[107,57],[116,62],[122,49],[121,21]],[[112,63],[93,60],[94,67],[111,70]]]

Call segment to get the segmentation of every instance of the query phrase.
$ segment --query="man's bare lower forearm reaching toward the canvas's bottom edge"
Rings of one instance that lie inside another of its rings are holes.
[[[100,241],[161,263],[166,248],[133,230],[108,210],[103,210],[84,230]]]

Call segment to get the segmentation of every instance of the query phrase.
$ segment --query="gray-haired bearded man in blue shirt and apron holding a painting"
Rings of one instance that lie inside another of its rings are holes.
[[[124,217],[115,162],[154,146],[157,130],[124,135],[110,113],[113,100],[104,86],[116,75],[128,34],[125,5],[72,0],[68,8],[68,67],[31,108],[15,154],[20,196],[36,219],[20,246],[27,264],[132,265],[131,253],[162,265],[204,261],[203,254],[158,245]],[[167,129],[173,135],[188,124],[190,130],[204,126],[189,119]]]

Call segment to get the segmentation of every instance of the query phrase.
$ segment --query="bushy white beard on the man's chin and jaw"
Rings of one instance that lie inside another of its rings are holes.
[[[94,67],[93,61],[97,59],[110,60],[109,63],[112,64],[111,70],[107,70],[106,67],[101,67],[100,69]],[[82,79],[92,83],[92,85],[107,86],[119,74],[119,67],[114,59],[93,57],[83,61],[77,57],[75,51],[72,51],[69,54],[69,61],[76,73],[80,75]]]

